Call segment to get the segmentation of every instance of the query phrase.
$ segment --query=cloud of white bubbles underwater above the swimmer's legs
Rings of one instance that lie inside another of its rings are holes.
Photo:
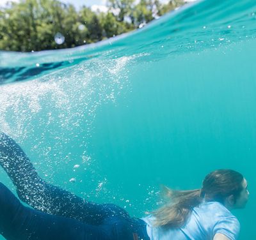
[[[97,109],[108,101],[114,103],[124,87],[129,91],[125,68],[137,57],[120,57],[100,64],[85,62],[36,80],[1,87],[1,130],[21,143],[31,142],[30,151],[36,159],[46,161],[44,176],[50,179],[50,169],[61,169],[63,163],[73,159],[87,170],[92,158],[86,145]],[[35,164],[40,170],[42,163]],[[76,177],[70,177],[69,182],[76,182]]]

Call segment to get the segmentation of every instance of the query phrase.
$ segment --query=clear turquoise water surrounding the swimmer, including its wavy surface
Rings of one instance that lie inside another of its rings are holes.
[[[202,1],[94,45],[0,52],[0,128],[44,179],[132,216],[159,184],[238,170],[240,239],[255,239],[255,23],[255,1]]]

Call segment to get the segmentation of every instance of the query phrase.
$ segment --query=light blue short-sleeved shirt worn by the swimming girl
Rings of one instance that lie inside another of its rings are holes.
[[[177,229],[152,227],[152,220],[152,216],[143,218],[150,240],[212,240],[216,233],[236,240],[240,231],[237,218],[220,202],[204,202],[194,207],[188,221]]]

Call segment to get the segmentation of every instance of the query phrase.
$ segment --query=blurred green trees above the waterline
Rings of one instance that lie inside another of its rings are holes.
[[[108,0],[108,11],[92,11],[58,0],[21,0],[0,8],[0,49],[64,49],[126,33],[184,4],[182,0]]]

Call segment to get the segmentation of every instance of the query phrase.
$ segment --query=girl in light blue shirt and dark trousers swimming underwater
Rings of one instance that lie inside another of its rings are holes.
[[[234,170],[208,174],[202,189],[172,191],[166,204],[143,219],[114,204],[96,204],[45,183],[20,146],[0,133],[0,164],[19,199],[0,183],[0,233],[7,239],[235,240],[239,221],[230,213],[248,200],[247,182]]]

